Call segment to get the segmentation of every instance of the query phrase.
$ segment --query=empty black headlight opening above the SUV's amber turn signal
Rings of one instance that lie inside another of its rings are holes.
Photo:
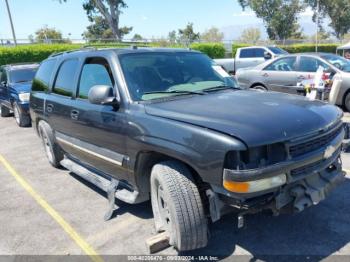
[[[231,151],[226,155],[225,168],[249,170],[263,168],[286,160],[283,143],[250,148],[246,151]]]

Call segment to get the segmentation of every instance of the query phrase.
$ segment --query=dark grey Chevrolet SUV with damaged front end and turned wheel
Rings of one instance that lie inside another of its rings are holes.
[[[300,212],[344,180],[342,112],[300,96],[241,90],[187,49],[82,49],[43,61],[30,113],[50,163],[115,198],[151,199],[179,251],[207,245],[230,210]]]

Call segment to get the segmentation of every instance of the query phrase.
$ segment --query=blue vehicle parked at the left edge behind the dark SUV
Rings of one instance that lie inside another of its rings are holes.
[[[13,112],[20,127],[31,125],[29,95],[38,64],[12,64],[0,67],[1,116]]]

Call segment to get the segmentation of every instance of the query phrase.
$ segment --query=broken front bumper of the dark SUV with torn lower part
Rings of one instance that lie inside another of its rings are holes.
[[[345,179],[340,159],[343,138],[344,131],[341,131],[330,144],[319,150],[274,166],[246,171],[225,170],[224,183],[226,180],[247,184],[264,179],[271,182],[283,176],[286,179],[275,180],[275,185],[264,183],[262,190],[244,193],[227,190],[225,184],[224,187],[212,186],[212,192],[207,192],[212,221],[219,220],[228,206],[244,214],[269,209],[278,215],[301,212],[318,204]]]

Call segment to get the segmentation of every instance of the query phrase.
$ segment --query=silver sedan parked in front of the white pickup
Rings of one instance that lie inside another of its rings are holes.
[[[270,60],[253,68],[238,70],[236,78],[243,88],[272,90],[298,94],[297,84],[314,78],[322,66],[332,76],[336,75],[342,84],[336,104],[350,111],[350,61],[330,53],[305,53],[287,55]]]

